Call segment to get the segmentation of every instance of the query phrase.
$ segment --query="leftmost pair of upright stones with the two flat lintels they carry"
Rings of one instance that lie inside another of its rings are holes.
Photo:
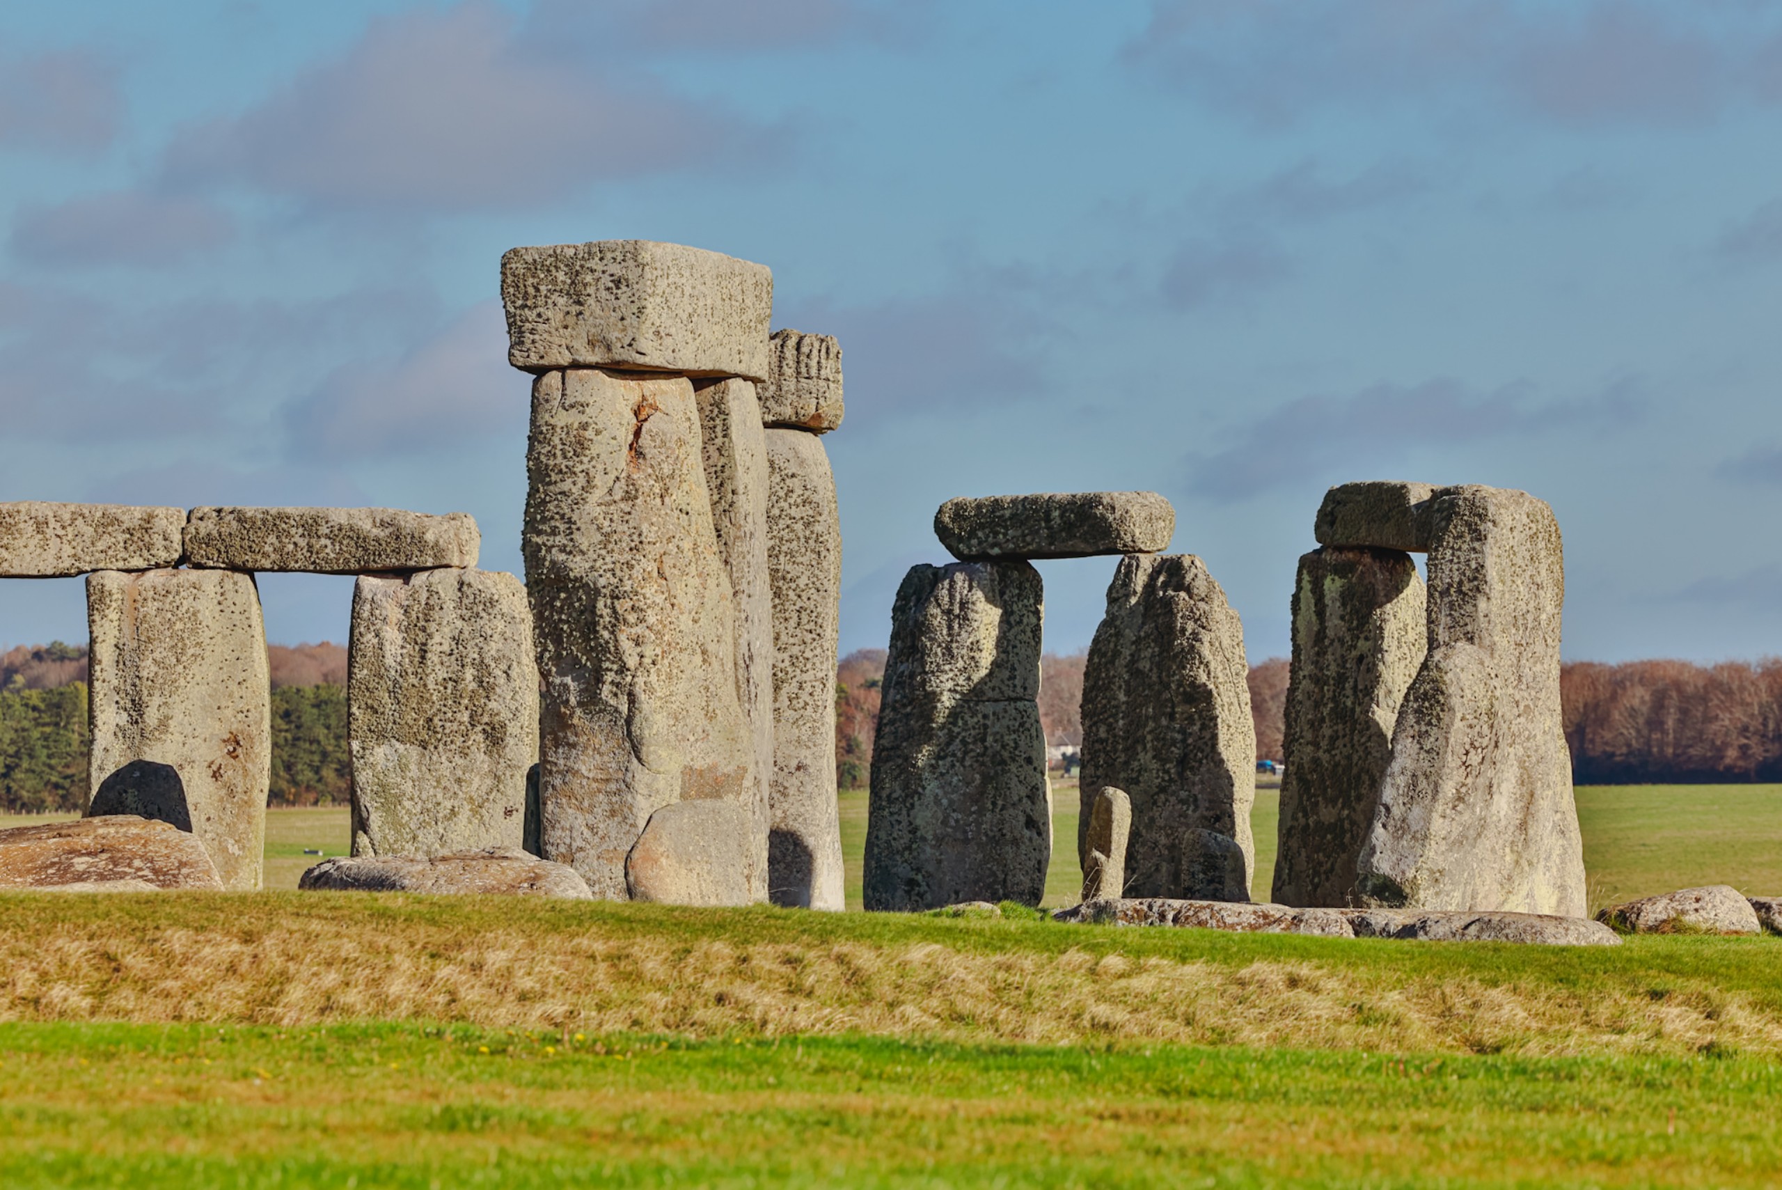
[[[271,686],[255,572],[358,574],[355,853],[519,846],[536,757],[524,590],[465,513],[0,504],[0,577],[87,575],[87,816],[187,830],[258,889]],[[492,743],[495,741],[495,743]]]

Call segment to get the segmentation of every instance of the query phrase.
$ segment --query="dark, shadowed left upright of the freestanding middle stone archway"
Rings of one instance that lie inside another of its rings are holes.
[[[914,566],[903,577],[873,745],[866,909],[1044,896],[1041,593],[1025,561]]]

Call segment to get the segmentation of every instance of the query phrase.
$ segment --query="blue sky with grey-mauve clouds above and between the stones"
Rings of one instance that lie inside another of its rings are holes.
[[[841,340],[845,652],[944,499],[1155,490],[1283,656],[1322,492],[1418,479],[1552,504],[1568,659],[1782,654],[1778,144],[1764,0],[9,4],[0,499],[520,572],[501,253],[654,239]],[[1114,559],[1041,570],[1085,647]],[[351,579],[260,588],[346,640]],[[80,583],[0,583],[52,638]]]

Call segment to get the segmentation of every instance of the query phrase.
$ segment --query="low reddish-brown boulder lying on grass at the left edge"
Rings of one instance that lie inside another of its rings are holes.
[[[196,835],[135,814],[109,814],[0,830],[0,889],[221,891],[223,880]]]

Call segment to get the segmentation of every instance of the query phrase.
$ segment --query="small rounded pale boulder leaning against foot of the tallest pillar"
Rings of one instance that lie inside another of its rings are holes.
[[[650,814],[625,857],[634,901],[747,905],[756,819],[736,802],[675,802]]]

